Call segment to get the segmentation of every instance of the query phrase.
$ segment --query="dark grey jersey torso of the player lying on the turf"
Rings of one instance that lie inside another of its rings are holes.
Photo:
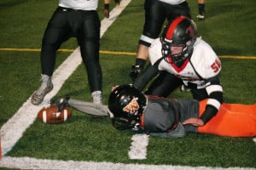
[[[143,113],[142,126],[147,133],[168,133],[178,122],[199,116],[199,102],[195,99],[166,99],[148,96]],[[196,127],[185,126],[186,131],[197,131]]]

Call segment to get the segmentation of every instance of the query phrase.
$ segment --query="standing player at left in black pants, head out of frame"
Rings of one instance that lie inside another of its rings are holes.
[[[104,0],[104,14],[109,17],[109,0]],[[31,102],[39,105],[53,89],[51,77],[56,51],[70,37],[76,37],[88,75],[93,102],[102,104],[102,68],[99,62],[101,20],[98,0],[60,0],[44,31],[41,50],[41,86],[32,94]]]

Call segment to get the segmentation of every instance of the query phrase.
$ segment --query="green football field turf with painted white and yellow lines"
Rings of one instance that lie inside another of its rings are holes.
[[[123,2],[127,1],[123,0]],[[188,2],[195,16],[196,3],[192,0]],[[6,131],[9,132],[9,138],[6,139],[8,144],[3,146],[4,154],[6,151],[7,153],[3,156],[3,161],[0,161],[0,167],[11,167],[11,165],[16,165],[15,168],[30,169],[57,169],[61,165],[67,169],[84,169],[84,167],[88,169],[191,169],[193,167],[254,169],[256,167],[256,144],[252,138],[234,139],[195,133],[189,133],[183,139],[146,137],[148,139],[146,157],[131,159],[129,151],[134,135],[130,132],[117,132],[107,117],[96,119],[73,110],[73,116],[67,122],[58,125],[44,124],[35,119],[37,114],[35,111],[46,105],[46,101],[32,108],[27,99],[40,85],[39,48],[45,25],[56,5],[57,1],[49,0],[13,0],[0,3],[1,136],[7,135]],[[100,7],[99,14],[102,18],[102,5]],[[113,4],[111,7],[113,8]],[[26,8],[31,8],[32,11]],[[253,104],[256,101],[254,11],[253,0],[244,2],[224,0],[221,3],[209,0],[207,20],[195,20],[200,35],[212,45],[222,61],[223,70],[220,77],[227,103]],[[134,63],[137,41],[143,28],[143,1],[131,1],[118,17],[113,16],[109,20],[113,19],[114,22],[105,31],[101,42],[105,105],[113,85],[131,82],[129,71]],[[49,97],[57,99],[70,94],[73,99],[91,100],[84,65],[80,64],[78,50],[73,53],[73,49],[76,48],[77,43],[74,39],[61,46],[63,50],[57,54],[56,68],[60,68],[63,61],[67,62],[67,67],[56,70],[55,88]],[[73,58],[67,58],[70,54]],[[49,100],[49,97],[46,100]],[[191,98],[190,94],[179,91],[170,97]],[[19,114],[20,116],[17,116]],[[135,143],[137,146],[139,144],[140,140]],[[8,166],[4,164],[6,162],[10,162]],[[137,164],[141,166],[135,166]]]

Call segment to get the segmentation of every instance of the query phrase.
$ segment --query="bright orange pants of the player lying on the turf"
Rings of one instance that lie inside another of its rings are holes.
[[[200,102],[200,114],[205,109],[206,100]],[[218,114],[198,133],[211,133],[230,137],[256,136],[256,105],[223,104]]]

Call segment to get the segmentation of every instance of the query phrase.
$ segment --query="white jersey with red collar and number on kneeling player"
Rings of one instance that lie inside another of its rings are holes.
[[[156,39],[149,48],[149,60],[151,65],[162,58],[160,38]],[[174,64],[166,62],[165,59],[158,65],[160,71],[168,71],[171,74],[183,80],[185,85],[188,82],[197,84],[197,88],[205,88],[205,81],[208,78],[215,77],[221,70],[221,63],[217,54],[211,46],[197,38],[194,45],[193,54],[188,62],[185,62],[180,68]]]

